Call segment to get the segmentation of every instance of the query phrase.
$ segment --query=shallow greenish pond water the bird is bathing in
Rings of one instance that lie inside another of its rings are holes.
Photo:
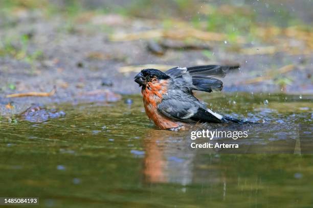
[[[311,96],[200,97],[215,112],[263,120],[237,140],[261,154],[191,151],[190,133],[155,129],[140,96],[67,104],[66,116],[41,123],[2,119],[0,196],[39,197],[39,207],[312,206],[313,155],[297,144],[303,126],[312,135]],[[295,147],[277,154],[286,138]]]

